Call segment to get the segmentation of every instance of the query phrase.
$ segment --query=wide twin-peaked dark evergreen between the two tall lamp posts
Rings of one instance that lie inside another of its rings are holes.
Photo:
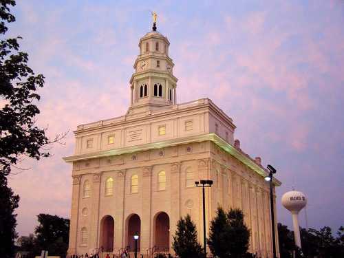
[[[247,254],[250,231],[244,224],[244,214],[239,209],[226,213],[217,208],[217,215],[211,221],[208,246],[220,258],[244,257]]]

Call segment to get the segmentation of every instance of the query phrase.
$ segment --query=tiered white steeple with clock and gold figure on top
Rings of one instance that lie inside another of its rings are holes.
[[[153,12],[153,30],[138,43],[139,54],[131,76],[131,105],[128,114],[139,114],[176,104],[178,79],[173,76],[173,61],[169,57],[169,40],[156,29]]]

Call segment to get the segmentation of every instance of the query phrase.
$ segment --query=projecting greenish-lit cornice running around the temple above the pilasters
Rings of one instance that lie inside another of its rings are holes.
[[[179,144],[188,144],[191,142],[204,142],[204,141],[211,141],[217,144],[218,147],[222,148],[224,151],[232,155],[233,157],[237,158],[240,162],[246,164],[250,169],[255,171],[258,175],[265,178],[268,173],[261,167],[258,166],[252,159],[250,159],[248,156],[246,156],[241,151],[237,150],[233,145],[229,144],[228,142],[225,142],[217,136],[215,133],[206,133],[198,136],[188,136],[184,138],[176,138],[171,140],[164,140],[161,142],[151,142],[147,144],[140,144],[132,147],[122,147],[118,149],[111,149],[108,151],[97,151],[94,153],[85,153],[80,155],[72,155],[63,158],[65,162],[75,162],[78,160],[89,160],[93,158],[104,158],[109,157],[113,155],[122,155],[125,153],[134,153],[137,151],[147,151],[149,149],[161,149],[165,147],[172,147]],[[276,186],[280,186],[281,182],[274,178],[273,180],[274,184]]]

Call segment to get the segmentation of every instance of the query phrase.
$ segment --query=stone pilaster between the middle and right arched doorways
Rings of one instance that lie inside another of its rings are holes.
[[[153,166],[142,168],[142,217],[141,219],[141,251],[146,253],[146,249],[152,246],[152,215],[151,215],[151,173]]]

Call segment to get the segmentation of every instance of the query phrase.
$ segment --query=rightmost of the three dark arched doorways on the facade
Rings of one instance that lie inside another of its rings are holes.
[[[170,219],[167,213],[155,215],[154,243],[159,250],[169,250],[170,246]]]

